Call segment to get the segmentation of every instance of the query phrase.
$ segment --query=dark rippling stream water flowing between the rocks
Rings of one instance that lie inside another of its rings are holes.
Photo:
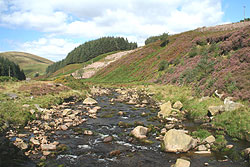
[[[156,132],[148,135],[148,140],[152,141],[152,143],[143,143],[134,139],[129,134],[136,125],[161,127],[159,121],[149,119],[152,116],[157,116],[158,111],[147,106],[135,107],[135,105],[123,102],[110,102],[112,98],[115,99],[117,96],[118,94],[113,92],[110,95],[94,97],[98,101],[98,106],[101,107],[97,112],[97,119],[91,119],[83,115],[82,118],[87,119],[83,124],[51,134],[50,138],[64,144],[66,149],[59,154],[47,157],[43,162],[44,165],[51,167],[170,167],[177,158],[185,157],[190,160],[191,167],[205,166],[205,163],[207,163],[206,166],[210,167],[249,166],[249,163],[243,159],[232,161],[229,157],[220,153],[212,152],[212,154],[199,155],[195,154],[194,151],[188,153],[163,152],[160,146],[161,141],[155,139],[158,136]],[[81,108],[82,105],[82,102],[77,102],[70,108]],[[119,111],[124,114],[122,116],[118,115]],[[129,126],[122,127],[121,122]],[[182,126],[186,130],[199,128],[199,124],[189,120],[182,122]],[[90,130],[93,135],[85,135],[82,133],[83,130]],[[113,140],[104,143],[104,138],[108,136],[112,136]],[[233,144],[238,152],[250,147],[248,142],[234,142],[229,137],[226,137],[226,139],[228,144]],[[20,155],[14,154],[4,159],[1,158],[4,162],[0,162],[0,166],[1,164],[9,164],[8,166],[14,164],[13,166],[33,167],[39,162],[39,160],[32,160],[25,156],[20,156],[20,159],[18,159],[17,156]]]

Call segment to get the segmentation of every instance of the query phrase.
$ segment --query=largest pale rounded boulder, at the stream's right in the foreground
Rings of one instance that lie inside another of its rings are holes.
[[[197,145],[197,140],[185,134],[183,130],[171,129],[164,138],[164,149],[166,152],[187,152]]]

